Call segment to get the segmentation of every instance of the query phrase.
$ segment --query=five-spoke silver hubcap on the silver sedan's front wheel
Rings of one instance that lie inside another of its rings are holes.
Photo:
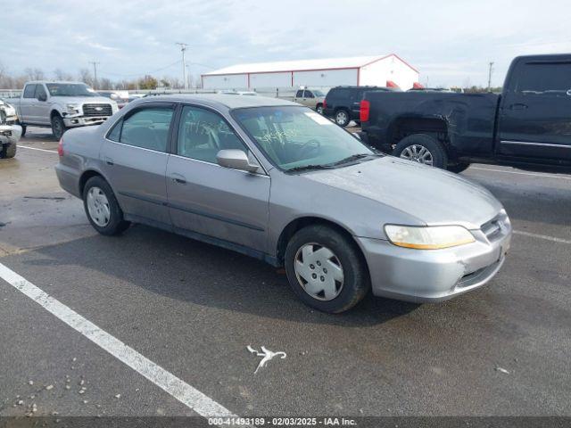
[[[312,298],[333,300],[343,290],[343,266],[335,253],[319,245],[306,243],[295,254],[297,281]]]

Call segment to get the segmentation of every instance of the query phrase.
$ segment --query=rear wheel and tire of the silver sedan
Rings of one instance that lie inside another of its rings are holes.
[[[89,223],[101,235],[119,235],[130,225],[123,219],[119,202],[103,177],[87,180],[83,189],[83,206]]]

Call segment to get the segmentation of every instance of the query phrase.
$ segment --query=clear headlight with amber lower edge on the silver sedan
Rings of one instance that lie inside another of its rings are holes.
[[[399,226],[385,225],[391,243],[417,250],[438,250],[476,241],[462,226]]]

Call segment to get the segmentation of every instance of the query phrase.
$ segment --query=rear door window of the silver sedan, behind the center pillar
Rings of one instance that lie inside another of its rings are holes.
[[[115,126],[120,128],[120,143],[166,152],[172,113],[170,107],[150,107],[135,111],[123,120],[122,127]]]

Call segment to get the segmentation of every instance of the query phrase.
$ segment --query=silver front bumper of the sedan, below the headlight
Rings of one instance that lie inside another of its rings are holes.
[[[475,243],[443,250],[412,250],[380,239],[356,239],[367,259],[374,295],[424,303],[474,290],[498,273],[509,250],[509,220],[492,240],[481,231],[474,235]]]

